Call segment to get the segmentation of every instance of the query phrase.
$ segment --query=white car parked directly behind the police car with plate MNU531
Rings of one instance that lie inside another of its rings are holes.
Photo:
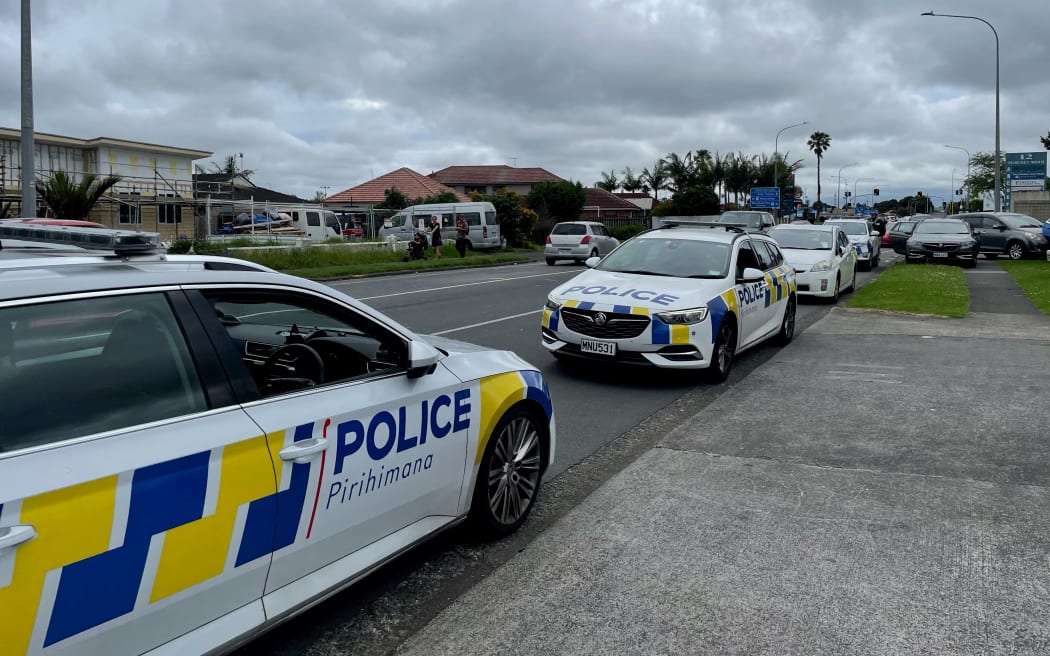
[[[857,285],[857,252],[842,228],[776,226],[768,233],[780,247],[784,261],[795,269],[799,296],[839,300],[841,292]]]

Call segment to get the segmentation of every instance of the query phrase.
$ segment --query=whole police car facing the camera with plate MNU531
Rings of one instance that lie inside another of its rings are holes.
[[[708,369],[795,333],[795,271],[764,234],[665,220],[560,285],[543,309],[542,344],[560,359]]]

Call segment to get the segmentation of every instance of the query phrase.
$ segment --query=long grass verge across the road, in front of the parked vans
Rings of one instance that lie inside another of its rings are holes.
[[[492,266],[527,261],[528,256],[520,252],[498,251],[491,254],[468,251],[460,257],[455,246],[441,249],[441,259],[434,259],[433,249],[427,249],[426,259],[405,261],[404,253],[394,253],[386,249],[374,251],[338,251],[327,249],[300,249],[295,251],[237,252],[231,255],[258,262],[271,269],[304,278],[335,278],[369,273],[390,273],[393,271],[421,271],[462,266]]]

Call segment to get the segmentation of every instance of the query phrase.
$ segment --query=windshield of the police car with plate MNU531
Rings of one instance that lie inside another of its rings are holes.
[[[698,239],[631,239],[602,260],[596,269],[676,278],[724,278],[730,245]]]

